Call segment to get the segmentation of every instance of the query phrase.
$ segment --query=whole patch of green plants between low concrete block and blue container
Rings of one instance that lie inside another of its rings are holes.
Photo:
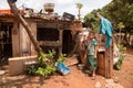
[[[29,66],[27,69],[28,74],[33,75],[33,76],[41,75],[43,77],[51,76],[57,70],[55,64],[61,63],[66,58],[65,54],[61,54],[57,61],[55,61],[54,56],[55,56],[54,50],[49,51],[49,54],[40,53],[39,65]]]

